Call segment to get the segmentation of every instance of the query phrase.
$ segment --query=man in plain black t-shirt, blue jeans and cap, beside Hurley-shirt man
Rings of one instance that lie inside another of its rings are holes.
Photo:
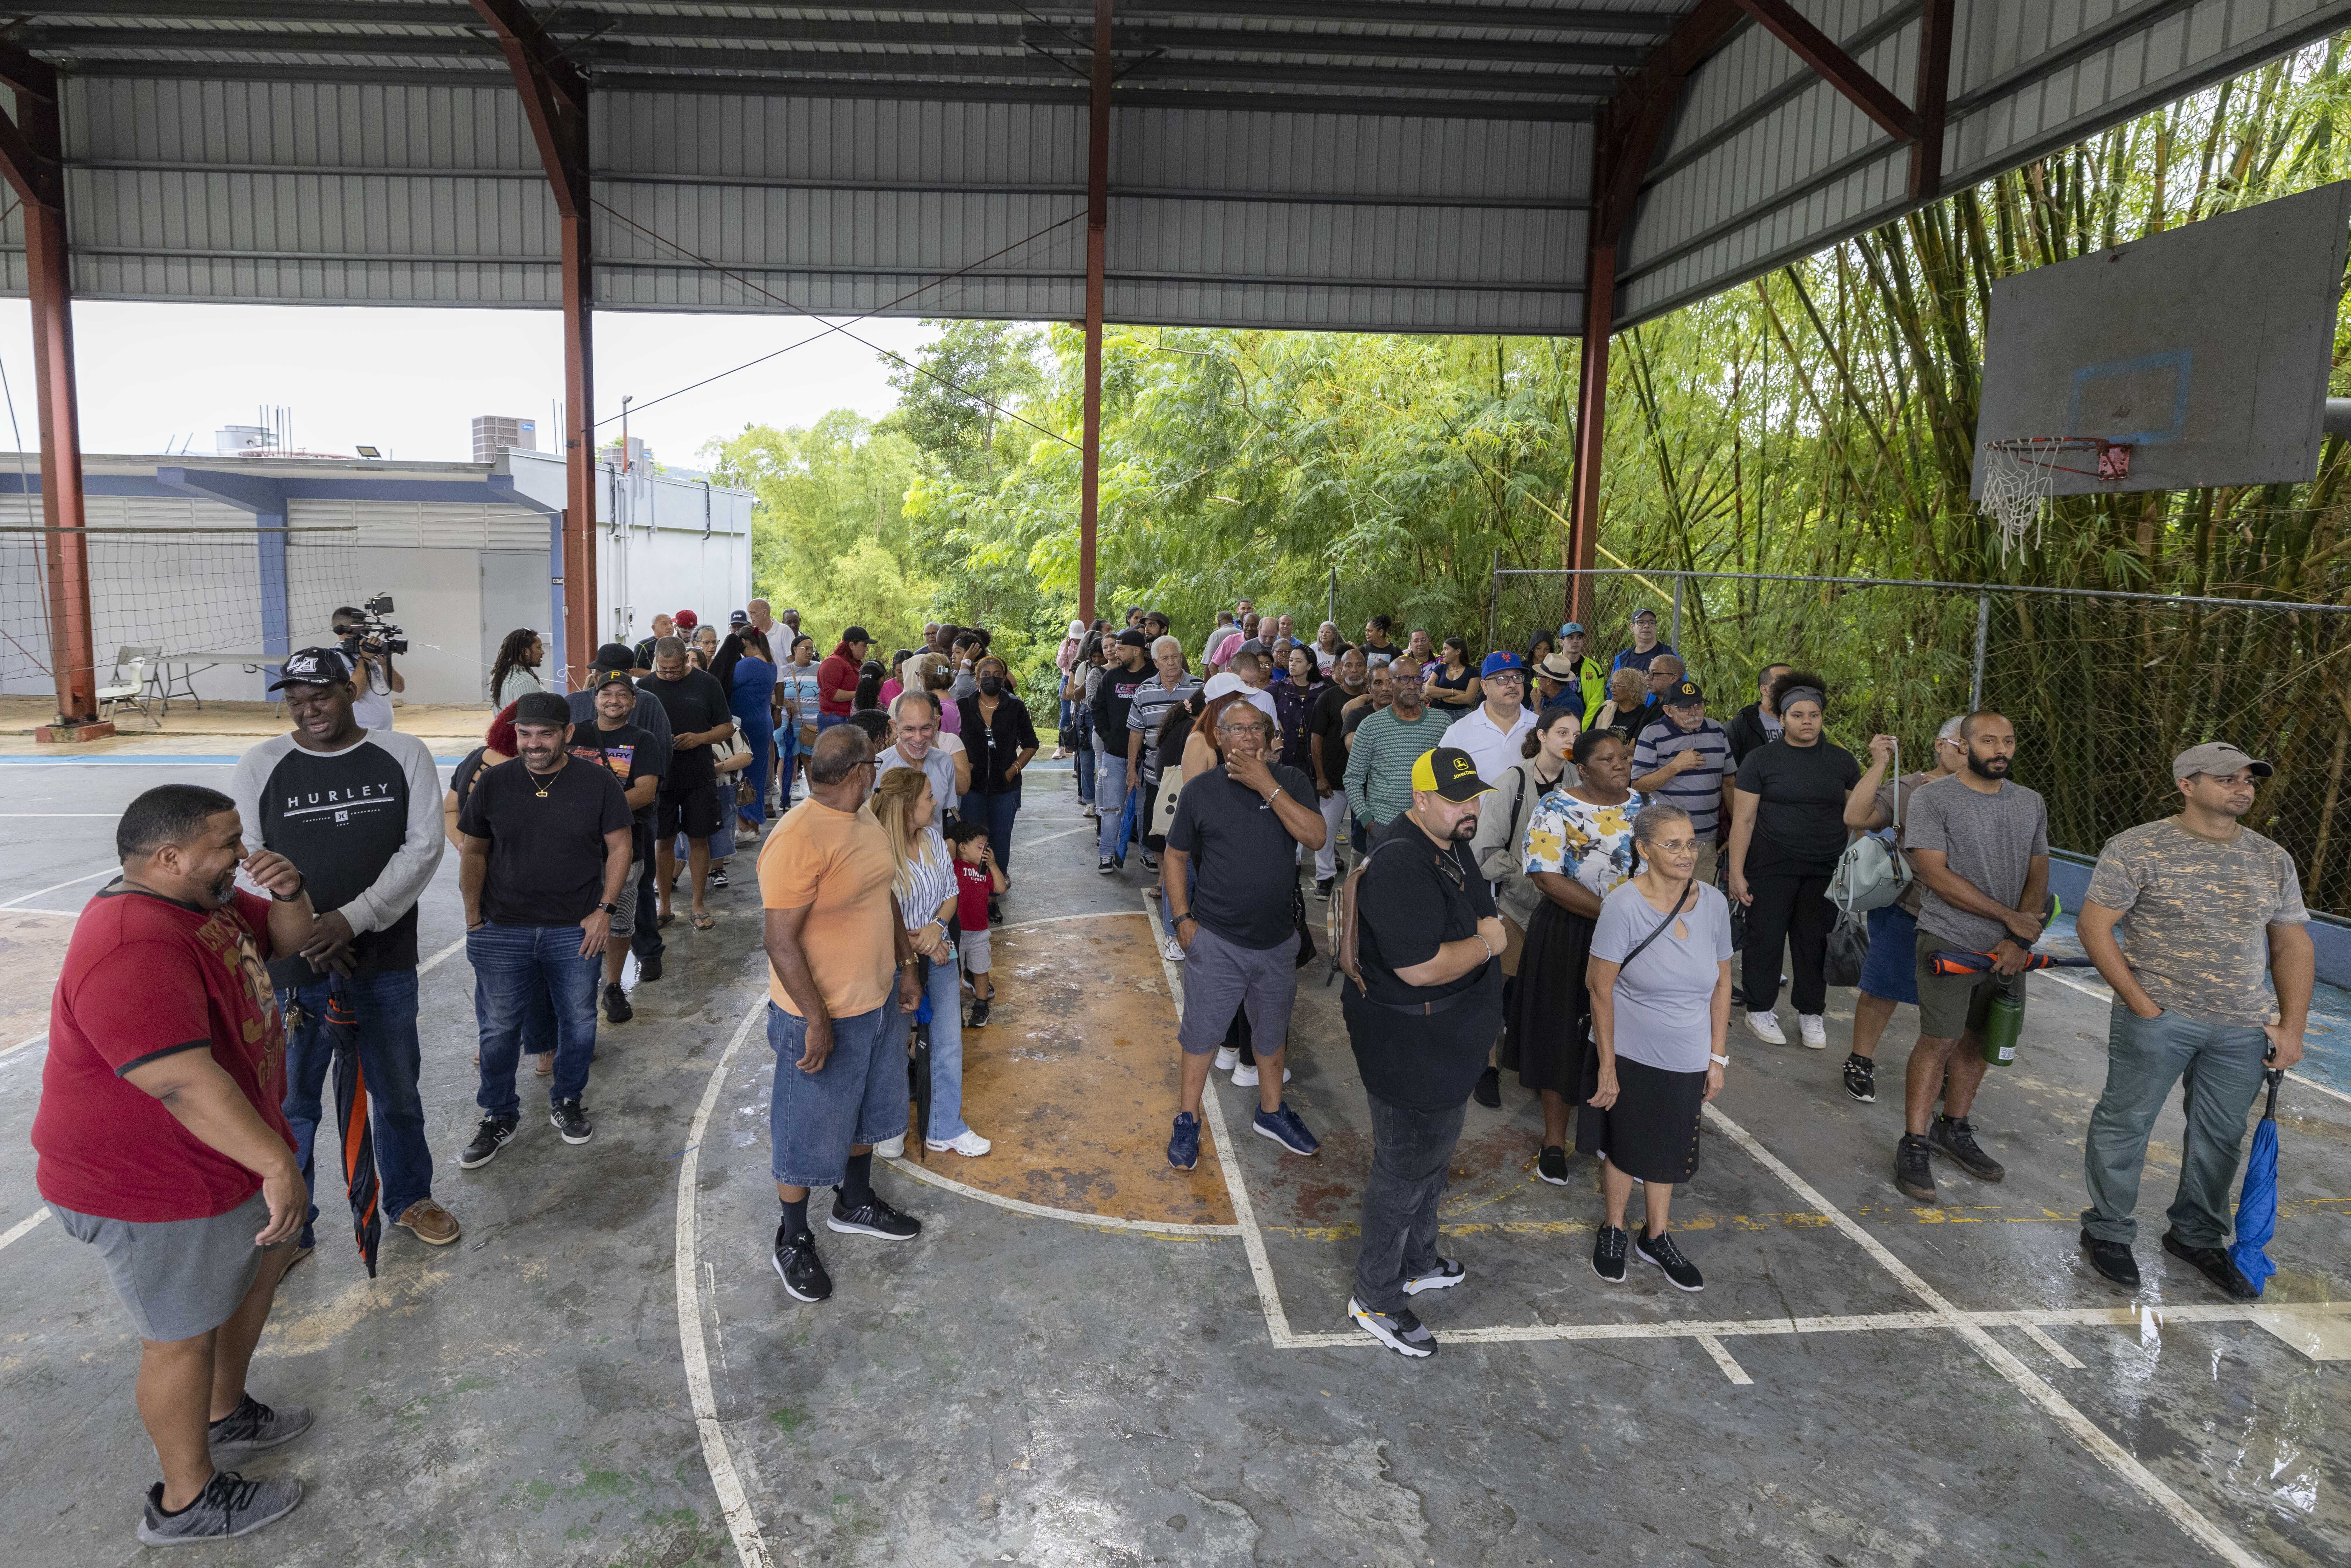
[[[473,1171],[498,1157],[522,1121],[515,1063],[534,992],[555,1011],[550,1121],[588,1143],[588,1063],[595,985],[611,917],[628,882],[635,823],[611,769],[574,762],[571,708],[552,691],[515,703],[515,759],[484,769],[458,811],[465,959],[482,1001],[482,1126],[458,1154]]]

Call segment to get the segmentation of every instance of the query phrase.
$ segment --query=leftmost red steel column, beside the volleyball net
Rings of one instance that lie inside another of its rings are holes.
[[[82,512],[82,421],[73,388],[73,277],[66,270],[66,167],[56,73],[0,49],[16,118],[0,115],[0,172],[24,207],[26,292],[33,303],[33,390],[40,409],[40,522],[49,578],[49,675],[56,724],[42,741],[89,741],[99,726],[99,661],[89,616],[89,536]]]

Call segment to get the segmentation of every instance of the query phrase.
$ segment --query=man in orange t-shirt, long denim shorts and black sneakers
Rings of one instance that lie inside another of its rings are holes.
[[[915,945],[882,825],[865,806],[872,743],[837,724],[809,752],[809,799],[759,851],[766,905],[769,1147],[783,1222],[776,1274],[804,1302],[832,1295],[809,1229],[809,1187],[832,1187],[832,1229],[884,1241],[922,1222],[875,1194],[872,1147],[905,1133],[905,1013],[922,1001]],[[896,1001],[896,1006],[891,1006]]]

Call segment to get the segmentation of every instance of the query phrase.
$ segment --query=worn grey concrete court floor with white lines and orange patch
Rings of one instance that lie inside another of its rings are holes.
[[[0,773],[14,785],[0,856],[21,889],[7,912],[75,910],[99,877],[35,891],[101,872],[113,811],[165,776],[226,769]],[[1726,1121],[1676,1206],[1702,1295],[1648,1269],[1601,1286],[1585,1262],[1589,1161],[1545,1187],[1526,1095],[1472,1107],[1448,1199],[1469,1281],[1422,1298],[1448,1342],[1404,1363],[1342,1324],[1366,1145],[1324,966],[1302,976],[1288,1091],[1321,1159],[1246,1133],[1218,1159],[1253,1100],[1218,1084],[1211,1157],[1166,1171],[1180,969],[1145,945],[1138,867],[1098,877],[1079,820],[1067,773],[1039,771],[1009,898],[1020,929],[999,936],[1004,1004],[966,1048],[971,1121],[997,1154],[933,1157],[969,1194],[886,1173],[926,1232],[907,1246],[825,1234],[837,1295],[820,1307],[790,1302],[766,1260],[773,1058],[748,877],[715,896],[717,931],[670,929],[668,976],[637,992],[635,1023],[602,1030],[597,1138],[581,1150],[527,1121],[496,1164],[454,1168],[475,1114],[473,1018],[463,957],[437,964],[426,1105],[437,1194],[465,1239],[428,1251],[393,1232],[367,1281],[322,1215],[254,1375],[263,1399],[320,1410],[310,1436],[252,1465],[301,1476],[308,1497],[205,1552],[616,1566],[2351,1556],[2351,1103],[2288,1086],[2271,1248],[2285,1272],[2266,1326],[2154,1244],[2177,1168],[2168,1114],[2142,1204],[2149,1284],[2130,1302],[2074,1246],[2104,1004],[2031,980],[2027,1058],[1977,1112],[2010,1178],[1947,1173],[1944,1206],[1916,1208],[1886,1180],[1914,1013],[1883,1051],[1888,1093],[1862,1107],[1834,1084],[1850,1020],[1836,994],[1829,1051],[1735,1046]],[[458,926],[449,860],[423,952]],[[47,992],[38,947],[14,973]],[[0,1563],[129,1561],[153,1474],[129,1399],[136,1342],[94,1260],[54,1222],[24,1227],[40,1213],[24,1140],[40,1048],[12,1044]]]

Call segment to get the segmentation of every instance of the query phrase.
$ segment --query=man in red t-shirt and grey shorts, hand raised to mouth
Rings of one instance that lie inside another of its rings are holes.
[[[115,851],[122,879],[75,922],[49,1004],[33,1180],[139,1331],[139,1420],[162,1462],[139,1540],[221,1540],[301,1502],[299,1481],[214,1465],[310,1427],[247,1394],[245,1371],[310,1211],[268,961],[317,919],[292,860],[245,853],[219,790],[148,790]],[[240,863],[268,898],[237,891]]]

